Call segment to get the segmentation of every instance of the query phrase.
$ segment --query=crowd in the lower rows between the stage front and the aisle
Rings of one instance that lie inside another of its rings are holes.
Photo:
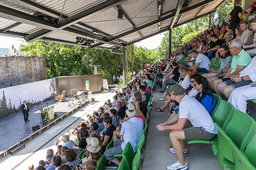
[[[157,64],[141,70],[125,87],[116,91],[111,100],[88,114],[86,121],[60,136],[59,141],[54,142],[56,150],[47,150],[46,160],[28,169],[94,170],[103,154],[109,160],[105,167],[117,168],[120,161],[113,155],[123,153],[127,142],[132,144],[134,152],[137,151],[156,70]],[[112,139],[114,146],[106,149]],[[81,153],[85,153],[84,158],[79,157]]]

